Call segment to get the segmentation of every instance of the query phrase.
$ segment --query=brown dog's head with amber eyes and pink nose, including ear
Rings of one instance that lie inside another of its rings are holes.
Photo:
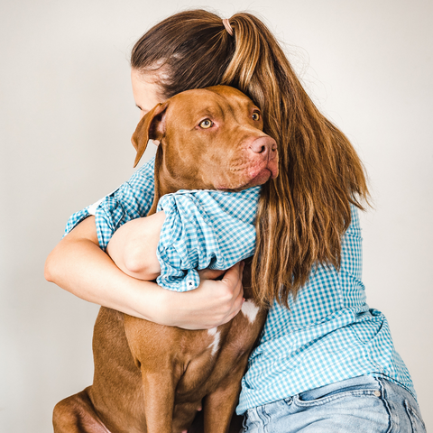
[[[150,139],[160,142],[155,172],[168,189],[241,190],[278,175],[262,113],[235,88],[187,90],[155,106],[134,132],[134,167]]]

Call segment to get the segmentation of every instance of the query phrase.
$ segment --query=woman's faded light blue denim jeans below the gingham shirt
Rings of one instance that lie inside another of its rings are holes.
[[[244,433],[425,433],[419,406],[400,385],[359,376],[246,412]]]

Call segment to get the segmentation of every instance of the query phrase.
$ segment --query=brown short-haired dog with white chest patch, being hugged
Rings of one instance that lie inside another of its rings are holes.
[[[135,165],[159,140],[155,198],[179,189],[241,190],[278,174],[275,141],[260,110],[235,88],[189,90],[155,106],[133,135]],[[207,432],[225,433],[266,312],[253,303],[244,270],[241,313],[217,328],[163,327],[101,308],[92,386],[60,401],[56,433],[186,432],[203,408]]]

